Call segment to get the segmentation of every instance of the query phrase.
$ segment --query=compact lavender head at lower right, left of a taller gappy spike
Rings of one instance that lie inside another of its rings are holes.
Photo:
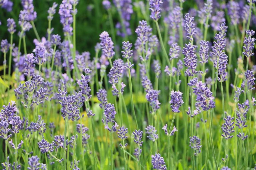
[[[231,133],[235,131],[235,126],[233,126],[234,122],[232,122],[233,119],[234,117],[231,118],[231,116],[227,116],[227,118],[224,118],[225,123],[221,126],[224,134],[221,135],[225,137],[225,139],[230,139],[233,137],[233,135],[231,135]]]

